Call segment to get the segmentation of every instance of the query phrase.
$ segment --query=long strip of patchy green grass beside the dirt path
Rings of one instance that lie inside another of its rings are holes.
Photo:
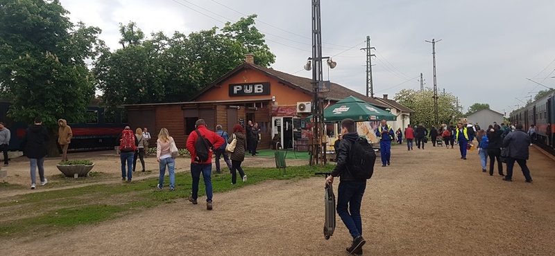
[[[237,185],[231,185],[231,174],[212,174],[212,187],[215,193],[225,192],[268,180],[306,179],[314,176],[314,172],[330,172],[332,168],[333,165],[289,167],[287,174],[280,174],[275,168],[246,168],[247,183],[239,179]],[[192,179],[188,172],[176,174],[175,191],[169,191],[167,176],[162,191],[156,188],[157,180],[151,178],[133,183],[89,185],[3,199],[0,201],[0,215],[10,216],[10,219],[0,219],[0,237],[24,236],[31,232],[47,235],[57,230],[122,217],[131,210],[175,203],[191,194]],[[205,195],[203,181],[200,181],[198,194]]]

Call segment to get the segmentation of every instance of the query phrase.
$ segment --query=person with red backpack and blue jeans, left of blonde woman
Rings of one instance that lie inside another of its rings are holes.
[[[126,162],[127,162],[127,182],[133,179],[133,158],[139,141],[133,134],[133,130],[126,126],[117,138],[119,142],[119,159],[121,160],[121,181],[126,181]]]

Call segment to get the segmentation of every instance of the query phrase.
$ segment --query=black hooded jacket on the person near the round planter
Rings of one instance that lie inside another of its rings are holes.
[[[22,149],[28,158],[43,158],[46,156],[46,141],[49,140],[48,131],[42,125],[31,125],[25,130]]]

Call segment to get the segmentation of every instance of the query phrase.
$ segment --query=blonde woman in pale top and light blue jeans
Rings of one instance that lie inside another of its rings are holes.
[[[162,190],[164,185],[166,166],[169,173],[169,189],[173,190],[173,185],[176,183],[176,174],[173,172],[176,168],[176,159],[171,157],[171,143],[174,142],[173,138],[169,136],[168,129],[160,129],[160,134],[158,134],[158,140],[156,141],[156,159],[160,163],[160,177],[157,185],[159,190]]]

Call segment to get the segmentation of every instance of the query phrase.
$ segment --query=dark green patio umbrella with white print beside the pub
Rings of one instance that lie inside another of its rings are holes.
[[[397,117],[388,111],[378,109],[364,100],[349,96],[339,100],[336,104],[324,109],[325,122],[340,122],[345,118],[351,118],[355,122],[379,121],[382,119],[395,121]],[[307,122],[311,122],[312,116],[307,117]]]

